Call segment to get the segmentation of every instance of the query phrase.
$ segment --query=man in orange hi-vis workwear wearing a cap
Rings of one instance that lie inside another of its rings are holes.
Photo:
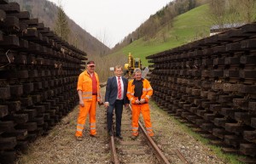
[[[99,77],[94,71],[95,66],[94,61],[87,62],[86,71],[79,75],[77,88],[79,93],[79,117],[75,133],[79,141],[82,140],[84,124],[88,113],[90,117],[90,136],[96,137],[96,103],[102,104],[102,98]]]

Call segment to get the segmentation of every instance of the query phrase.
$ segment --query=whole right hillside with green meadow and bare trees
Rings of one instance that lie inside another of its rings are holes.
[[[242,25],[256,20],[255,0],[175,0],[150,16],[117,44],[111,56],[146,56],[210,35],[213,26]]]

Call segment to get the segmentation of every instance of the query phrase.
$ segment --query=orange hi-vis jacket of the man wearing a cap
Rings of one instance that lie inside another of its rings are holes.
[[[97,80],[97,101],[100,101],[101,99],[101,94],[100,94],[100,81],[99,81],[99,76],[94,72],[94,76],[96,76]],[[92,80],[90,75],[88,74],[87,71],[82,72],[79,75],[79,82],[78,82],[78,88],[77,90],[82,91],[83,99],[84,101],[91,101],[92,100]]]

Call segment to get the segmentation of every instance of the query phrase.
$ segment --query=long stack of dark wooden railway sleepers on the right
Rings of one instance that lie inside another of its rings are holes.
[[[256,156],[256,23],[147,59],[161,108],[201,127],[224,151]]]

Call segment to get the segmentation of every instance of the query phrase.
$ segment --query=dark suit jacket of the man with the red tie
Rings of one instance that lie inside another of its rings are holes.
[[[128,86],[128,80],[122,76],[122,81],[124,84],[124,105],[129,104],[129,99],[126,96],[127,93],[127,86]],[[106,87],[106,93],[105,93],[105,102],[108,102],[109,105],[113,105],[116,97],[118,94],[118,85],[116,81],[116,76],[108,77],[107,87]]]

